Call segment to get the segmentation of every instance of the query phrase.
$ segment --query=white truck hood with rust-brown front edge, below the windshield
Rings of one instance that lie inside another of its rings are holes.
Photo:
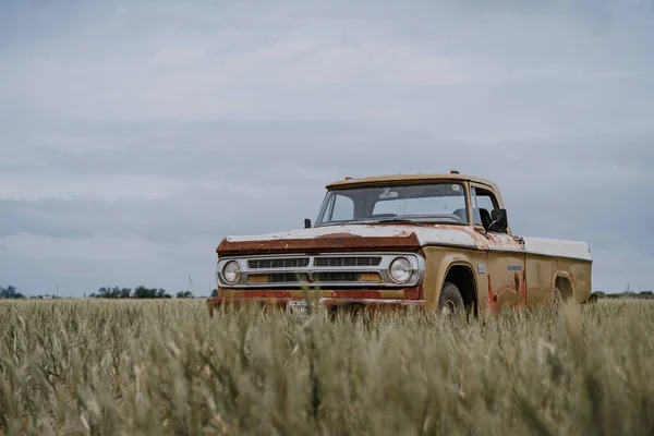
[[[475,247],[475,235],[459,226],[350,225],[228,237],[219,256],[352,251],[417,251],[427,244]]]

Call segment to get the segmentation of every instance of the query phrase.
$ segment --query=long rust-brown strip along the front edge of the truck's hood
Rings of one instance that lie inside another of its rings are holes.
[[[370,251],[417,251],[420,241],[414,232],[397,237],[361,237],[350,233],[330,234],[329,238],[274,239],[261,241],[231,242],[227,238],[216,249],[219,257],[279,254],[279,253],[325,253],[325,252],[370,252]]]

